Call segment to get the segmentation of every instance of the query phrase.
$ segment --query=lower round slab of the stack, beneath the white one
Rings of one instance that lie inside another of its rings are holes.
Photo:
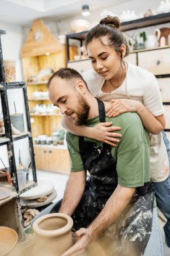
[[[51,203],[52,200],[54,200],[55,198],[56,198],[56,191],[54,189],[52,193],[48,195],[46,201],[38,202],[37,199],[32,199],[32,200],[21,199],[21,205],[26,206],[28,208],[36,208],[36,207],[44,206],[44,205],[47,205],[48,203]]]

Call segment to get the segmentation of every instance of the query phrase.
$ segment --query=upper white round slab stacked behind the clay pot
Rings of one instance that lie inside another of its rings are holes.
[[[32,189],[22,193],[20,195],[21,199],[32,200],[44,195],[49,195],[54,189],[54,184],[50,181],[38,181],[38,185]]]

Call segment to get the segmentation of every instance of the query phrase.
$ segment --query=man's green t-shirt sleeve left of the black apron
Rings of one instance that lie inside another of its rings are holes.
[[[71,172],[79,172],[85,170],[81,155],[79,153],[79,139],[76,135],[67,133],[66,135],[67,148],[71,158]]]

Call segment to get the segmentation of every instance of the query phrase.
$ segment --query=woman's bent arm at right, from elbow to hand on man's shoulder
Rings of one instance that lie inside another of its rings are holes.
[[[159,134],[165,129],[165,117],[153,116],[151,112],[138,100],[118,99],[112,100],[112,104],[107,109],[108,117],[117,117],[125,112],[136,112],[140,116],[144,127],[153,134]]]

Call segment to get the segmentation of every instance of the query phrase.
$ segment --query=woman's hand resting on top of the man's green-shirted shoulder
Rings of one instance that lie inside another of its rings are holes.
[[[130,100],[127,98],[120,98],[117,100],[111,100],[110,106],[106,108],[108,117],[117,117],[125,112],[138,112],[141,102],[137,100]]]

